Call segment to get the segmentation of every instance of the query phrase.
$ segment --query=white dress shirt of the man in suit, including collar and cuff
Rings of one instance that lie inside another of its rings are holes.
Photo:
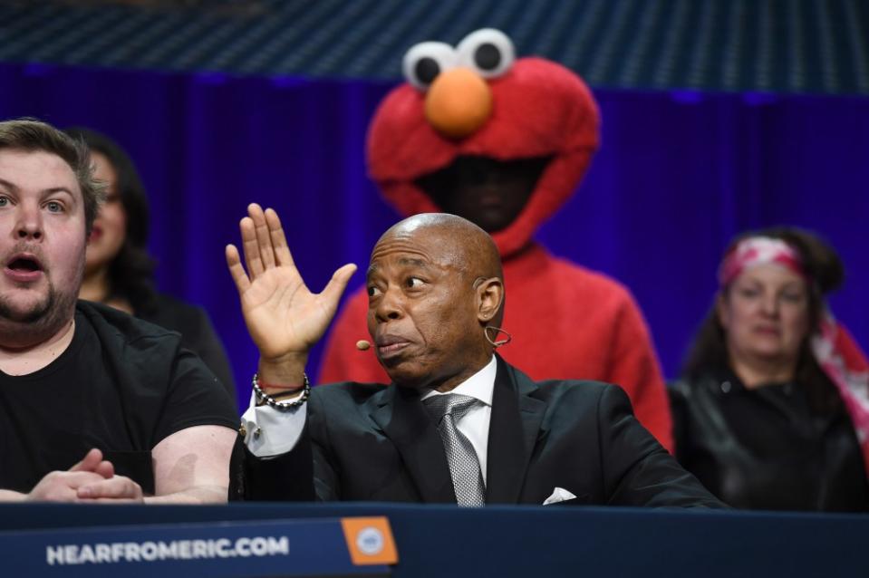
[[[492,419],[492,394],[495,391],[497,364],[495,356],[486,367],[462,381],[449,393],[468,395],[482,401],[459,419],[456,427],[470,441],[477,452],[480,472],[486,481],[486,458],[488,455],[488,425]],[[443,395],[437,390],[423,394],[425,400],[433,395]],[[302,437],[306,404],[282,411],[267,405],[257,406],[256,396],[251,393],[250,406],[241,417],[246,429],[245,444],[257,458],[274,458],[290,451]]]

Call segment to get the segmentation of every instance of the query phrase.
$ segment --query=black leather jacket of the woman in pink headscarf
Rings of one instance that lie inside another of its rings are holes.
[[[869,509],[863,456],[845,409],[818,413],[797,383],[748,390],[731,371],[670,388],[676,458],[730,506]]]

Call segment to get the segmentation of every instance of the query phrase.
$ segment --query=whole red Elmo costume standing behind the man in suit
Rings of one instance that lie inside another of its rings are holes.
[[[661,371],[642,314],[612,279],[550,255],[532,236],[573,195],[598,144],[588,87],[565,67],[515,59],[506,35],[469,34],[457,47],[420,43],[408,82],[390,92],[368,136],[369,172],[404,216],[449,212],[482,226],[504,264],[498,351],[534,380],[617,383],[637,418],[672,448]],[[320,382],[388,382],[368,336],[367,294],[353,294],[333,327]]]

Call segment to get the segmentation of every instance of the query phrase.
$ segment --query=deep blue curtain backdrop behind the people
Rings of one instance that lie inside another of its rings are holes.
[[[211,313],[242,405],[256,350],[223,255],[247,203],[280,211],[317,291],[337,266],[366,264],[397,218],[364,160],[389,84],[5,64],[0,87],[0,117],[87,125],[129,149],[150,194],[159,285]],[[848,280],[834,311],[869,345],[869,99],[595,95],[602,149],[539,238],[631,288],[668,376],[710,305],[722,249],[759,226],[809,227],[838,248]]]

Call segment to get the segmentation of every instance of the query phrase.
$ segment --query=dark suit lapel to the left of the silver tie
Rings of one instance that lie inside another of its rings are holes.
[[[371,416],[398,449],[422,501],[455,504],[443,443],[419,392],[393,384]]]

